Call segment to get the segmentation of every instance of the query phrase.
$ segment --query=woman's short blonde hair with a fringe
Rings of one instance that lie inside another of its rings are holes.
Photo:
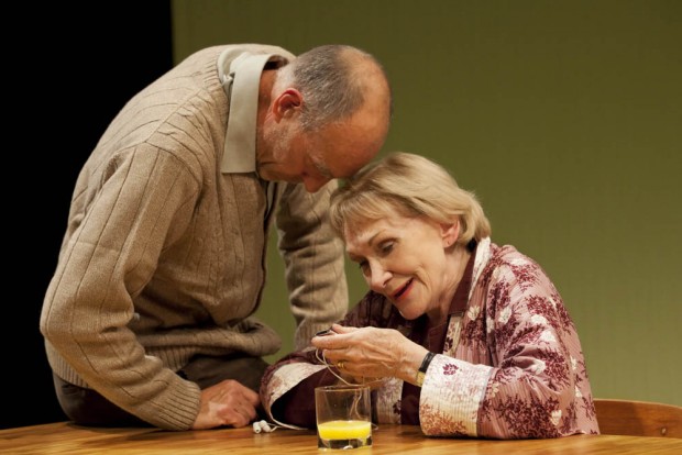
[[[342,238],[356,224],[391,214],[446,224],[459,220],[457,242],[462,245],[491,235],[475,195],[460,188],[442,166],[409,153],[394,152],[366,165],[331,197],[331,225]]]

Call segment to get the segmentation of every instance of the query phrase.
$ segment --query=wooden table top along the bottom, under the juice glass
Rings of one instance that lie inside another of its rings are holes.
[[[557,440],[486,441],[426,437],[419,426],[381,425],[373,446],[358,454],[682,454],[682,440],[576,435]],[[341,452],[341,451],[332,451]],[[0,430],[0,454],[322,454],[315,431],[251,426],[167,432],[157,429],[92,429],[67,422]]]

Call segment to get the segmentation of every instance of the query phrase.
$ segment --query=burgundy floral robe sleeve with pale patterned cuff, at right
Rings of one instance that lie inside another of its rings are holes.
[[[575,328],[541,268],[520,256],[493,264],[471,299],[457,358],[437,355],[427,370],[419,411],[425,434],[596,432],[592,399],[579,387],[587,379]]]

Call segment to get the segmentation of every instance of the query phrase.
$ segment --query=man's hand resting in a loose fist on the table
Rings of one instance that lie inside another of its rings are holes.
[[[217,426],[246,426],[256,418],[258,393],[233,379],[226,379],[201,390],[201,408],[193,430]]]

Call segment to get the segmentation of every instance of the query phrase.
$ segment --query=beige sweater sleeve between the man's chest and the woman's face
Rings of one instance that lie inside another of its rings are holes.
[[[285,189],[277,213],[278,247],[285,263],[289,304],[296,320],[295,348],[309,344],[348,311],[343,245],[328,222],[331,181],[316,193],[302,185]]]

